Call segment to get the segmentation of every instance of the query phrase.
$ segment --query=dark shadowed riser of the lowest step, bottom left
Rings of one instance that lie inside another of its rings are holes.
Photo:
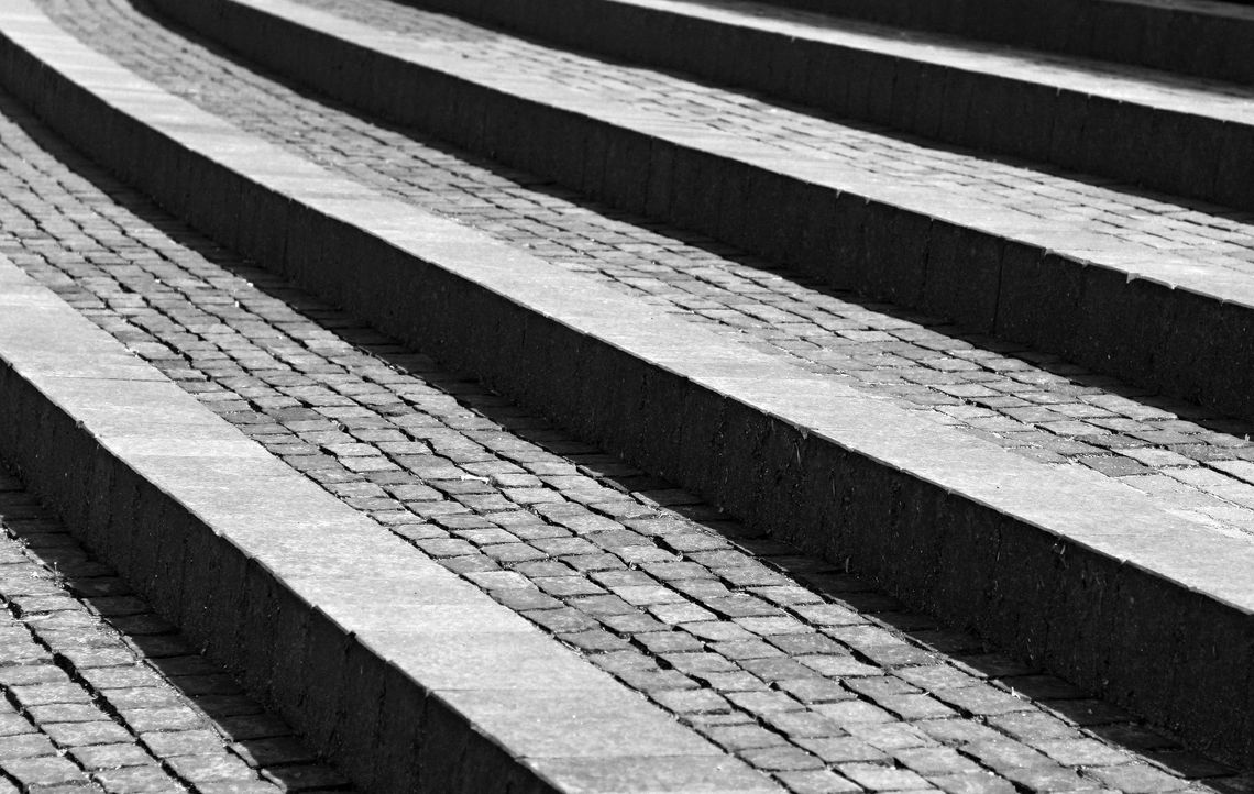
[[[367,791],[556,794],[0,361],[0,448],[79,539]]]

